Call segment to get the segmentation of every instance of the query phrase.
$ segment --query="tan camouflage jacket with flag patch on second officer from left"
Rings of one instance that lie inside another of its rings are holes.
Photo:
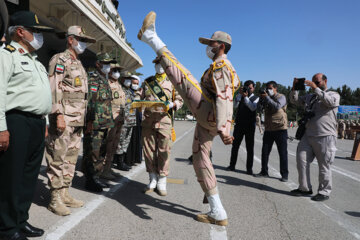
[[[84,126],[88,77],[80,60],[69,50],[54,55],[49,63],[49,81],[52,92],[50,119],[61,114],[66,125]]]

